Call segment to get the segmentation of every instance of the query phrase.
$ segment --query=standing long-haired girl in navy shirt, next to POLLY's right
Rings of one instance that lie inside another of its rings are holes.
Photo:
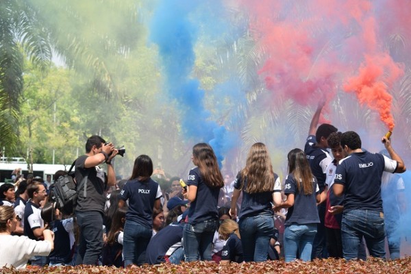
[[[192,148],[192,163],[196,167],[188,173],[187,191],[188,224],[184,228],[184,251],[186,261],[211,260],[212,238],[219,224],[217,202],[220,188],[224,186],[212,147],[199,143]]]

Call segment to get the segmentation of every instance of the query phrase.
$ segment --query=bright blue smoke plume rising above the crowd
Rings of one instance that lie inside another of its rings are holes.
[[[197,18],[201,22],[190,20],[200,5],[201,1],[159,1],[151,21],[150,40],[158,45],[169,97],[181,106],[185,136],[196,142],[210,143],[221,167],[223,155],[234,145],[231,140],[233,135],[224,126],[212,121],[211,113],[204,106],[205,92],[199,87],[198,79],[190,76],[195,62],[193,48],[199,25],[216,25],[212,23],[212,18],[206,16]]]

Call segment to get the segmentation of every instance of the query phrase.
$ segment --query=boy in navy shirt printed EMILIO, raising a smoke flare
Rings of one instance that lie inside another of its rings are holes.
[[[406,166],[386,136],[382,142],[393,160],[379,153],[363,151],[356,132],[345,132],[341,136],[341,147],[347,158],[337,166],[333,190],[337,197],[345,194],[341,238],[346,260],[357,258],[363,236],[370,255],[385,258],[382,173],[403,173]]]

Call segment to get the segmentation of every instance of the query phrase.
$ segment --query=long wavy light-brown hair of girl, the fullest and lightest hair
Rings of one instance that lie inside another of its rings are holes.
[[[273,191],[274,172],[266,145],[262,142],[256,142],[251,146],[247,156],[247,164],[240,173],[243,182],[247,177],[246,192],[260,193]]]

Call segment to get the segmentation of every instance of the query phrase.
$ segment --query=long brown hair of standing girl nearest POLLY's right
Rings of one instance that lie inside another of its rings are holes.
[[[224,179],[217,163],[216,155],[210,145],[201,142],[192,147],[192,158],[199,167],[201,178],[210,188],[222,188]]]

